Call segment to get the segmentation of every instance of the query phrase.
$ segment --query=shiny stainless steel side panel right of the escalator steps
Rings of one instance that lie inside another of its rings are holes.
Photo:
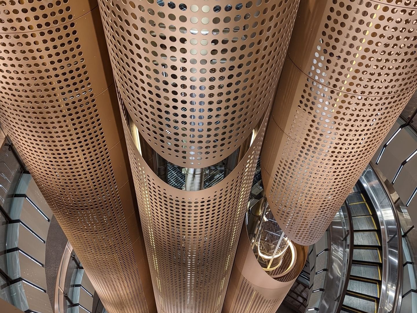
[[[381,229],[382,284],[377,312],[396,313],[401,305],[402,289],[402,237],[399,218],[389,194],[370,165],[359,181],[374,206]]]

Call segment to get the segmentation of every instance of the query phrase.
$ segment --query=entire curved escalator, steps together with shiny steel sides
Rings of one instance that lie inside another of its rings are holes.
[[[313,246],[317,257],[311,259],[309,284],[308,275],[300,275],[295,283],[310,286],[307,301],[293,305],[301,294],[291,288],[293,293],[284,303],[299,313],[414,312],[410,301],[402,309],[403,246],[395,204],[382,179],[368,166],[326,234]],[[303,307],[306,310],[299,309]]]

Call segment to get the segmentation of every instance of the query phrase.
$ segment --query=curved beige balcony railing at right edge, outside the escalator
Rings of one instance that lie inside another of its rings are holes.
[[[410,98],[373,158],[402,230],[403,274],[400,312],[417,312],[417,92]],[[401,266],[401,265],[400,265]],[[397,309],[398,311],[398,309]]]

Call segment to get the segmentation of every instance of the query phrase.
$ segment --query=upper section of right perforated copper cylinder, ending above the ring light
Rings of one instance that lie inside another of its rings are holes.
[[[271,211],[291,240],[322,236],[414,93],[415,6],[301,2],[261,155]]]

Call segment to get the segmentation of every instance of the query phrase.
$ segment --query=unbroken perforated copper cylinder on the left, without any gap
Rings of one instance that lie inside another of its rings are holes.
[[[16,0],[0,10],[2,127],[108,312],[155,312],[97,4]]]

